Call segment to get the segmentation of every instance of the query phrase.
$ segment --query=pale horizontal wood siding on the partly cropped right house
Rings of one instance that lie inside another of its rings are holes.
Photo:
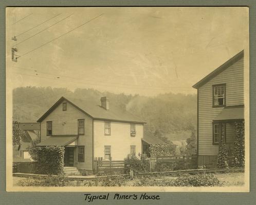
[[[212,107],[212,86],[217,84],[226,84],[226,106],[244,105],[244,58],[198,89],[198,155],[218,154],[218,145],[212,145],[212,120],[224,107]],[[231,133],[227,127],[227,134]]]

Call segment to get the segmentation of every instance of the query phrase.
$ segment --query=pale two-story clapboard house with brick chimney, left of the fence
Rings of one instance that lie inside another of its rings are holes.
[[[61,97],[40,119],[41,142],[37,146],[64,146],[64,166],[92,173],[95,157],[123,160],[141,154],[143,120],[125,109]]]

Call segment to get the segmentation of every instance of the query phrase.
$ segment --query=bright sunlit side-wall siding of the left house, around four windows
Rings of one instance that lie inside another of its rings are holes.
[[[136,146],[136,155],[141,154],[142,137],[142,124],[136,124],[136,136],[132,137],[130,123],[111,121],[111,135],[104,135],[104,121],[94,120],[94,156],[104,159],[104,146],[111,146],[112,160],[123,160],[130,154],[130,146]]]

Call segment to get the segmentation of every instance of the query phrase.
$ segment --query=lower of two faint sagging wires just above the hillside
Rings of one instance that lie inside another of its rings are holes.
[[[71,81],[71,80],[63,80],[63,79],[56,79],[56,78],[49,78],[49,77],[43,77],[43,76],[38,76],[38,75],[30,75],[30,74],[25,74],[25,73],[16,73],[16,72],[13,72],[15,74],[20,74],[20,75],[28,75],[28,76],[32,76],[32,77],[40,77],[40,78],[46,78],[46,79],[50,79],[50,80],[58,80],[58,81],[66,81],[66,82],[69,82],[69,83],[76,83],[76,84],[83,84],[83,85],[92,85],[92,86],[102,86],[102,87],[114,87],[114,88],[117,88],[117,86],[111,86],[111,85],[99,85],[99,84],[89,84],[89,83],[81,83],[81,82],[78,82],[78,81]],[[121,85],[121,84],[120,84]],[[167,89],[167,90],[171,90],[172,88],[149,88],[149,86],[144,86],[144,88],[129,88],[129,87],[120,87],[118,86],[118,88],[125,88],[125,89],[141,89],[141,90],[163,90],[163,89]],[[177,88],[175,88],[177,89]],[[179,89],[181,90],[181,89]],[[183,89],[183,90],[190,90],[190,89]]]

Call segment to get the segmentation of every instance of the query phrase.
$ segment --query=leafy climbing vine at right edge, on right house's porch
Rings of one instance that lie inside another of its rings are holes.
[[[235,122],[234,139],[234,166],[243,167],[245,165],[245,126],[244,121]]]

